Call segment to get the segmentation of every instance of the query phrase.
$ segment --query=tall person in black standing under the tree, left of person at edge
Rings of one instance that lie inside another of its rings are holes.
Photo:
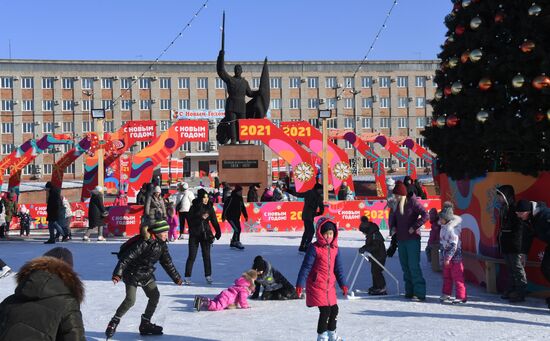
[[[523,266],[525,252],[522,247],[523,229],[515,212],[515,192],[510,185],[499,186],[496,189],[499,203],[499,235],[500,253],[508,268],[508,289],[501,296],[510,302],[525,300],[527,276]]]

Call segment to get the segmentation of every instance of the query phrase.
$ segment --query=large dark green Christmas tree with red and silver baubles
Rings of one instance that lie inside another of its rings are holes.
[[[550,168],[550,0],[455,0],[423,132],[454,179]]]

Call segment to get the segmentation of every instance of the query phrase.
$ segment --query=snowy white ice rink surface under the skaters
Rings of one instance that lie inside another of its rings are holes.
[[[161,299],[153,322],[164,327],[162,337],[140,337],[138,325],[144,311],[146,297],[138,291],[136,305],[124,316],[113,340],[315,340],[317,308],[307,308],[305,300],[262,302],[250,300],[251,309],[221,312],[196,312],[193,297],[197,294],[215,296],[232,284],[252,265],[258,254],[263,255],[292,283],[296,281],[302,256],[297,252],[301,233],[243,234],[244,251],[229,248],[229,234],[216,241],[212,250],[214,285],[204,281],[202,258],[195,262],[193,285],[179,287],[171,283],[158,266],[157,279]],[[362,245],[359,232],[340,233],[340,252],[349,269]],[[43,240],[8,241],[0,246],[0,258],[14,270],[51,246]],[[86,300],[82,314],[88,340],[104,340],[108,321],[124,298],[124,285],[111,282],[111,272],[122,241],[107,243],[63,243],[71,249],[75,269],[86,285]],[[58,246],[60,244],[56,244]],[[423,246],[424,248],[424,246]],[[187,258],[187,241],[170,244],[172,258],[183,275]],[[388,258],[388,268],[402,279],[397,254]],[[510,305],[497,295],[489,295],[482,288],[468,285],[469,301],[464,306],[443,305],[441,275],[429,269],[424,253],[422,267],[427,281],[428,299],[414,303],[401,297],[377,297],[345,300],[339,297],[338,332],[351,340],[543,340],[550,335],[550,312],[543,300],[529,298],[519,305]],[[356,288],[371,286],[370,265],[360,273]],[[13,293],[15,277],[0,280],[0,300]],[[386,276],[390,294],[395,285]],[[401,284],[401,291],[403,285]],[[338,290],[340,293],[341,291]]]

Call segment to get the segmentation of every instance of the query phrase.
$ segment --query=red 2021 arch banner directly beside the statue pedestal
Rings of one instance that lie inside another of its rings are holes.
[[[296,191],[315,185],[315,166],[311,155],[268,119],[239,120],[239,140],[260,140],[292,166]]]

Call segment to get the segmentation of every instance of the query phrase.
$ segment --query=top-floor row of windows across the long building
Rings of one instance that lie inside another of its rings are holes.
[[[63,77],[61,79],[61,86],[63,89],[73,89],[74,83],[78,80],[78,77]],[[426,76],[416,76],[415,77],[415,86],[423,88],[426,86]],[[54,82],[58,80],[57,77],[43,77],[42,78],[42,89],[53,89]],[[99,77],[83,77],[80,79],[81,88],[84,90],[91,90],[94,87],[94,82],[100,80]],[[101,78],[101,89],[112,89],[113,81],[118,80],[118,78]],[[120,79],[120,88],[121,89],[130,89],[134,82],[138,82],[140,89],[150,89],[151,82],[157,80],[156,77],[125,77]],[[179,77],[178,79],[178,89],[189,89],[190,79],[189,77]],[[377,79],[371,76],[361,77],[361,88],[371,88]],[[281,77],[271,77],[269,80],[269,85],[272,89],[281,88]],[[307,87],[310,89],[319,88],[319,77],[307,77],[303,79],[301,77],[290,77],[289,87],[299,88],[302,83],[307,82]],[[378,77],[378,83],[381,88],[389,88],[391,83],[397,82],[398,88],[406,88],[409,86],[409,77],[408,76],[397,76],[397,78],[392,78],[390,76],[380,76]],[[0,88],[2,89],[13,89],[14,78],[13,77],[0,77]],[[260,78],[252,78],[252,87],[258,88],[260,85]],[[161,77],[159,79],[160,89],[170,89],[172,87],[172,79],[169,77]],[[353,77],[344,77],[344,83],[337,83],[337,78],[325,77],[325,88],[327,89],[337,89],[337,88],[350,88],[355,89],[355,78]],[[34,78],[33,77],[21,77],[21,88],[22,89],[33,89],[34,88]],[[197,78],[197,89],[208,89],[208,77],[199,77]],[[216,77],[216,89],[225,89],[224,81]]]

